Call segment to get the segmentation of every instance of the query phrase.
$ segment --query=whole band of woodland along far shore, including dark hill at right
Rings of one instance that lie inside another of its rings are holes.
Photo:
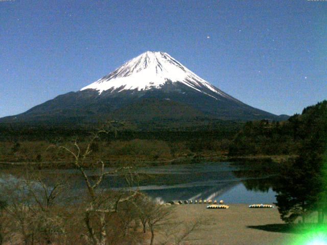
[[[320,103],[323,105],[325,102]],[[320,105],[318,104],[318,105]],[[179,156],[272,156],[299,155],[300,145],[311,130],[315,107],[303,109],[287,121],[194,121],[194,125],[160,127],[125,122],[116,135],[104,135],[94,151],[105,160],[169,160]],[[308,120],[308,122],[306,121]],[[177,123],[177,121],[174,121]],[[170,122],[173,124],[173,122]],[[90,125],[0,125],[2,161],[48,161],[44,152],[49,144],[86,142]],[[65,161],[66,159],[60,158]]]

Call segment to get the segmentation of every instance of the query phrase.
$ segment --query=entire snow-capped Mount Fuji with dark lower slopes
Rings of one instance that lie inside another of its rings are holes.
[[[282,120],[201,79],[167,53],[145,52],[77,92],[0,122],[160,121],[211,118]]]

